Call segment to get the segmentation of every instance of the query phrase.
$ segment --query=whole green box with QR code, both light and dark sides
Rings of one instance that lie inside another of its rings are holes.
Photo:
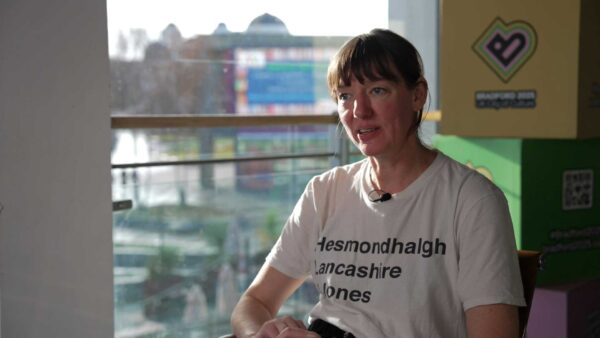
[[[517,246],[544,253],[538,285],[600,278],[600,139],[436,136],[504,192]]]

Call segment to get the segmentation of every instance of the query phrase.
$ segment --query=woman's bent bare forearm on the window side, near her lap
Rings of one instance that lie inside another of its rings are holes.
[[[263,265],[233,309],[231,325],[235,335],[238,338],[254,337],[262,328],[261,336],[276,337],[287,327],[304,329],[301,321],[290,317],[273,320],[281,305],[302,282],[302,279],[288,277],[268,264]]]

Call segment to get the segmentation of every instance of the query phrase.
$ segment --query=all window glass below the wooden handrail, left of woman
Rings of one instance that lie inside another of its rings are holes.
[[[134,206],[113,220],[116,336],[227,333],[306,183],[337,164],[338,137],[328,125],[115,130],[113,199]],[[316,297],[307,282],[281,313],[303,318]]]

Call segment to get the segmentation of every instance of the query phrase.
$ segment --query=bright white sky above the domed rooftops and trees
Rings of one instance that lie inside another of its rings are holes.
[[[351,36],[386,28],[388,0],[107,0],[110,48],[119,31],[143,28],[151,40],[170,23],[185,38],[211,34],[222,22],[243,32],[259,15],[281,19],[292,35]]]

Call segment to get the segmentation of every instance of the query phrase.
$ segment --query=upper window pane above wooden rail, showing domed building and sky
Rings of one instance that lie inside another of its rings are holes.
[[[329,59],[387,1],[108,0],[108,22],[114,115],[331,114]]]

